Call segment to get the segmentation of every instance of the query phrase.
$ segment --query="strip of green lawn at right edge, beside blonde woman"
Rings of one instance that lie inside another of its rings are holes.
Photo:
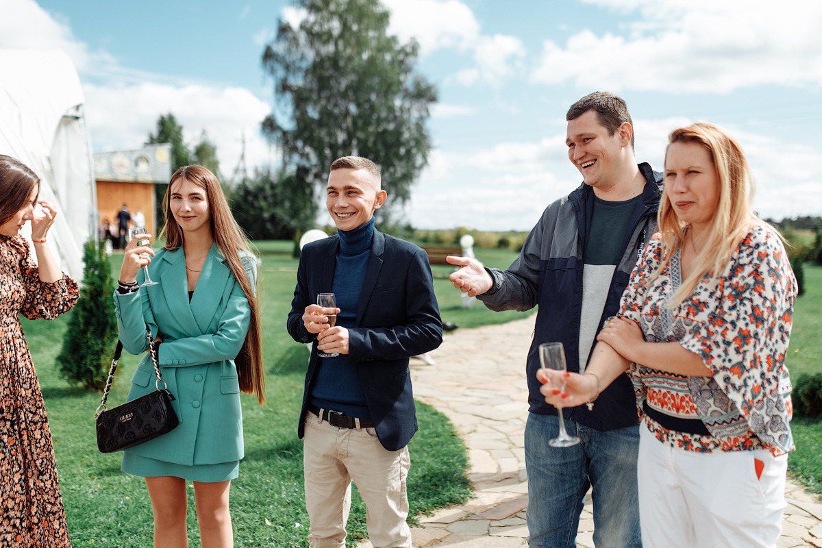
[[[805,263],[805,295],[793,310],[787,369],[799,375],[822,372],[822,266]],[[791,423],[797,450],[788,458],[788,469],[810,490],[822,493],[822,421],[795,418]]]

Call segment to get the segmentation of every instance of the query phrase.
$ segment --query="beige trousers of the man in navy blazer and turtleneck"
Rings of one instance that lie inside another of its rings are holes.
[[[338,428],[312,412],[306,414],[302,447],[311,548],[345,548],[352,480],[366,504],[372,546],[410,548],[408,447],[388,451],[373,428]]]

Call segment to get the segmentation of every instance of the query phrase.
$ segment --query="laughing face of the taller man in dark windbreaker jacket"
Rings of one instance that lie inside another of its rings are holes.
[[[585,184],[608,187],[618,181],[632,135],[633,128],[628,122],[610,135],[607,127],[599,123],[596,111],[589,110],[568,121],[568,159],[580,170]]]

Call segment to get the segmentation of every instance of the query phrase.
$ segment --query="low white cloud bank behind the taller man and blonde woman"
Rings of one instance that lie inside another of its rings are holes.
[[[668,134],[695,120],[635,120],[636,158],[663,170]],[[754,208],[773,219],[819,214],[822,153],[810,145],[728,127],[740,140],[756,181]],[[407,215],[417,228],[522,230],[533,228],[553,200],[580,185],[568,161],[565,132],[534,142],[506,142],[472,153],[434,150],[413,187]]]

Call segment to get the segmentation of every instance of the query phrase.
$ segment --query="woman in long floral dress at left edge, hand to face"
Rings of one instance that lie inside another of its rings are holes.
[[[48,251],[56,210],[38,201],[39,178],[0,154],[0,546],[71,546],[51,432],[20,315],[52,320],[80,291]],[[35,213],[35,204],[41,212]],[[31,221],[37,264],[18,234]]]

